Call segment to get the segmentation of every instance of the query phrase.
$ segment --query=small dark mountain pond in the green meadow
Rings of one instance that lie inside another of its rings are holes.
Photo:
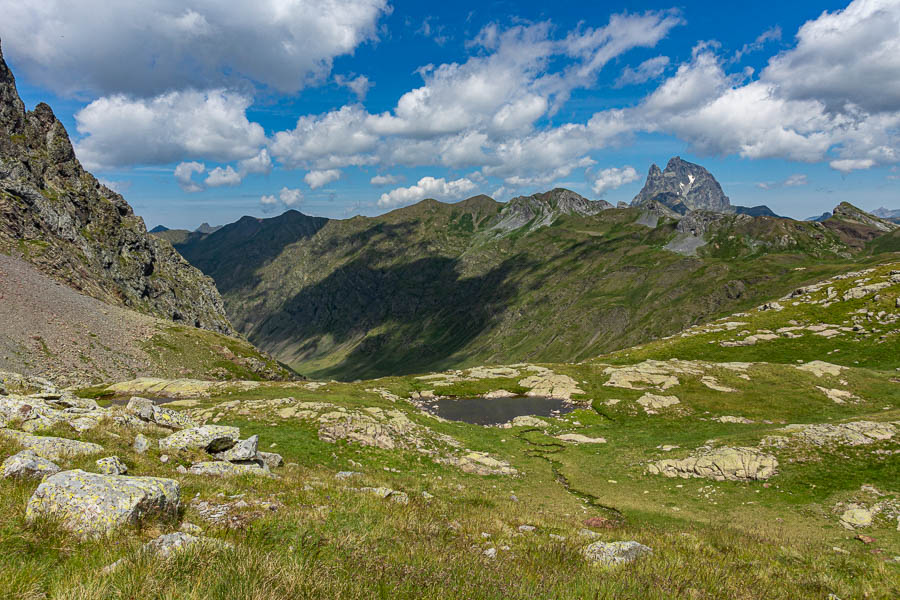
[[[577,408],[564,400],[542,396],[509,398],[441,398],[427,404],[425,410],[450,421],[473,425],[499,425],[515,417],[556,417]]]

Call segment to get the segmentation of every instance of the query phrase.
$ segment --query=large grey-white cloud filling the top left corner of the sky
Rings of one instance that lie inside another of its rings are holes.
[[[294,92],[375,39],[389,11],[387,0],[0,0],[5,50],[29,80],[145,97],[246,80]]]

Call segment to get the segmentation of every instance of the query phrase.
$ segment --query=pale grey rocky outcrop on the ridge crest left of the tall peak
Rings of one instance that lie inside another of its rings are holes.
[[[534,231],[552,225],[562,215],[590,216],[612,207],[605,200],[588,200],[573,191],[556,188],[543,194],[513,198],[491,229],[505,233],[530,224],[528,230]]]

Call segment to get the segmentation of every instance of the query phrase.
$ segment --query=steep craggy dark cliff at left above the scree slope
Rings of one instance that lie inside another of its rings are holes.
[[[212,280],[84,170],[50,107],[25,111],[2,51],[0,250],[104,302],[233,333]]]

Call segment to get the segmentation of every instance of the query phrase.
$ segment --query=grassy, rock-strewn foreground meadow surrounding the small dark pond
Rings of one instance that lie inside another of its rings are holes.
[[[70,390],[6,374],[0,594],[896,597],[895,270],[580,364]],[[857,317],[856,337],[807,329]],[[720,343],[791,320],[802,335]],[[423,410],[529,393],[577,408],[489,427]]]

